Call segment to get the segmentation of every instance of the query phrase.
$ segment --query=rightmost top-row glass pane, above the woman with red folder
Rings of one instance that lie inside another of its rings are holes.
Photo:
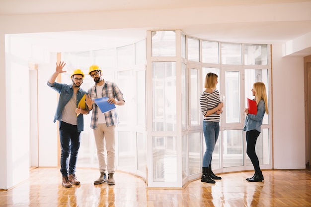
[[[244,45],[245,65],[267,65],[268,64],[267,45]]]

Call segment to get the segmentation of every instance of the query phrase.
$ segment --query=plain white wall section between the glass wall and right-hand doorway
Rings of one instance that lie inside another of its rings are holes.
[[[272,46],[273,160],[275,169],[303,169],[305,151],[304,58],[282,57]]]

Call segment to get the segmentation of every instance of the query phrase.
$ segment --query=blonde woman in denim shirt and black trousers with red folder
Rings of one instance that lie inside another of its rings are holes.
[[[259,160],[256,155],[255,147],[257,138],[261,132],[262,119],[265,112],[268,114],[268,99],[265,84],[262,82],[254,83],[252,95],[257,104],[257,113],[248,113],[248,108],[244,109],[246,119],[243,130],[246,131],[246,153],[254,166],[255,174],[251,178],[246,178],[249,182],[262,182],[263,175],[259,167]]]

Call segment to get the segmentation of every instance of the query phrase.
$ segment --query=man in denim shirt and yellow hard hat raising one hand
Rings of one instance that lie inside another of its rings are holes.
[[[55,82],[59,74],[66,72],[63,70],[65,65],[64,62],[56,63],[56,70],[48,80],[48,86],[60,94],[54,122],[59,120],[62,185],[70,188],[72,184],[80,184],[75,174],[76,164],[80,148],[80,133],[83,131],[83,114],[88,114],[89,111],[80,106],[84,103],[85,107],[84,95],[86,94],[80,88],[84,79],[84,73],[80,69],[73,71],[72,84]]]

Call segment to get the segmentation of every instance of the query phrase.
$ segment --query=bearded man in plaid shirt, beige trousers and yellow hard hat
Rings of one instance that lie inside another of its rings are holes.
[[[94,184],[108,181],[108,185],[115,185],[113,177],[115,173],[115,127],[118,123],[118,116],[115,109],[102,113],[94,100],[107,97],[108,103],[115,105],[124,105],[125,101],[118,86],[102,78],[102,70],[98,65],[91,65],[88,74],[95,82],[95,85],[87,92],[86,104],[89,110],[93,110],[90,127],[95,137],[100,172]],[[105,151],[107,151],[107,157]]]

